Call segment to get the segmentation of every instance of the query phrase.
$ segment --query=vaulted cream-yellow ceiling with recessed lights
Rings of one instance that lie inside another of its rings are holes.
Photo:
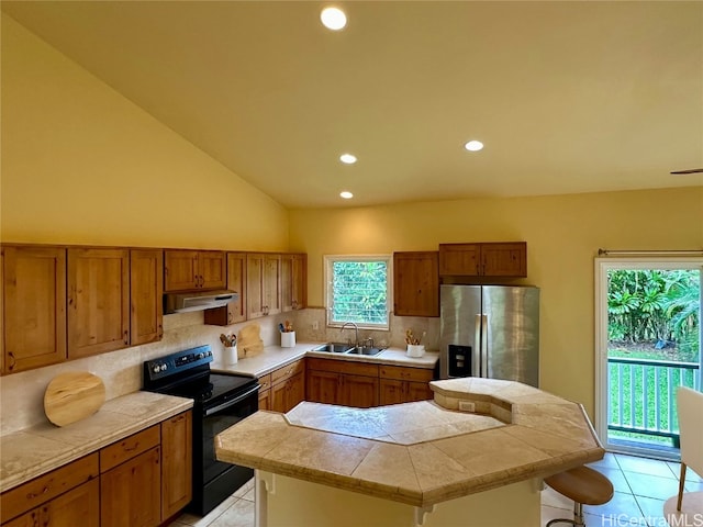
[[[703,184],[703,2],[337,5],[2,10],[288,208]]]

